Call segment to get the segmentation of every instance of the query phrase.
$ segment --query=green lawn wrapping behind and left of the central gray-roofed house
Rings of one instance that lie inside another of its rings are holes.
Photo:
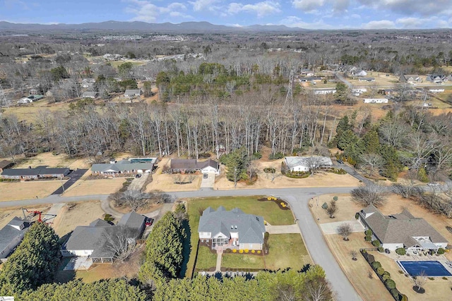
[[[278,207],[278,204],[274,202],[258,202],[260,197],[207,197],[199,199],[191,199],[187,203],[187,212],[189,214],[189,224],[191,229],[191,252],[189,262],[187,264],[186,276],[191,277],[193,267],[195,264],[196,246],[198,245],[198,224],[199,224],[199,209],[206,209],[207,207],[213,207],[217,209],[220,206],[224,206],[226,210],[230,210],[234,207],[239,207],[248,214],[261,215],[271,225],[290,225],[293,223],[294,218],[292,211],[282,210]],[[225,255],[225,254],[223,254]],[[235,255],[235,254],[230,254]],[[249,255],[251,256],[251,255]],[[255,255],[254,255],[255,256]],[[202,257],[199,257],[198,261]],[[204,260],[204,259],[202,259]],[[215,259],[216,260],[216,259]],[[214,265],[215,266],[215,265]],[[198,265],[196,267],[199,267]]]

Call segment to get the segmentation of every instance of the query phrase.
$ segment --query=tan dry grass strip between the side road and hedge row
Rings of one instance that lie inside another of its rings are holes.
[[[350,279],[352,285],[355,286],[359,295],[364,300],[369,301],[394,300],[375,272],[372,271],[364,257],[359,253],[359,248],[371,247],[369,242],[364,240],[364,233],[352,233],[349,238],[349,241],[344,241],[343,237],[338,234],[325,235],[328,247],[330,247],[340,267],[343,269],[345,275],[347,275],[347,278]],[[352,250],[358,252],[356,262],[350,256],[350,251]],[[371,271],[372,278],[369,278],[369,271]],[[391,273],[391,276],[393,276],[393,273]]]

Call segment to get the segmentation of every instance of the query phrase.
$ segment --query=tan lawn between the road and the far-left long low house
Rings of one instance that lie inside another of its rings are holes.
[[[63,181],[65,183],[66,180]],[[27,182],[1,182],[0,202],[16,199],[47,197],[61,187],[60,180],[37,180]]]

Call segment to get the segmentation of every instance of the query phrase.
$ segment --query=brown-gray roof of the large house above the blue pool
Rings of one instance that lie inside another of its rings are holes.
[[[370,216],[362,216],[374,235],[383,243],[403,242],[405,247],[412,247],[418,242],[413,237],[429,237],[432,242],[447,242],[438,231],[430,226],[422,218],[412,216],[410,212],[404,209],[400,214],[384,216],[373,205],[362,209],[360,214],[365,212],[374,212]]]

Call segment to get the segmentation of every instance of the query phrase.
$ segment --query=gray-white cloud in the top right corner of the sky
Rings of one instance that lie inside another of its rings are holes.
[[[393,11],[404,16],[436,16],[452,6],[452,0],[358,0],[364,6]]]

